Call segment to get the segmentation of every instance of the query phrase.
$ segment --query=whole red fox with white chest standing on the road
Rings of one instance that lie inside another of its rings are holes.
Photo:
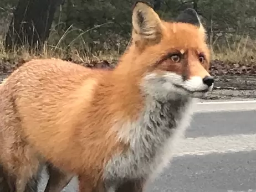
[[[166,22],[139,1],[115,69],[59,59],[20,66],[0,89],[0,162],[16,191],[28,191],[47,162],[63,186],[78,175],[80,192],[143,191],[170,162],[194,100],[213,88],[210,56],[193,9]]]

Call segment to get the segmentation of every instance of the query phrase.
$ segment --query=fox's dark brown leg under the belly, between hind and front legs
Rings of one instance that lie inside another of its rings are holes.
[[[57,167],[54,167],[54,165],[51,163],[47,163],[47,170],[49,174],[49,180],[44,192],[60,192],[74,177],[73,174],[65,173]]]

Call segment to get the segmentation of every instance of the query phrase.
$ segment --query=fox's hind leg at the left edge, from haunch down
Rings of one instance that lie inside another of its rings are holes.
[[[0,189],[9,190],[0,191],[36,192],[42,162],[23,135],[15,99],[11,95],[4,99],[6,103],[0,106]]]

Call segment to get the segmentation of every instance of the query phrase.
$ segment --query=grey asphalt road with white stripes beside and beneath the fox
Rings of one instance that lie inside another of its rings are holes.
[[[199,103],[170,168],[147,192],[256,191],[255,122],[256,101]],[[74,178],[64,191],[76,189]]]

